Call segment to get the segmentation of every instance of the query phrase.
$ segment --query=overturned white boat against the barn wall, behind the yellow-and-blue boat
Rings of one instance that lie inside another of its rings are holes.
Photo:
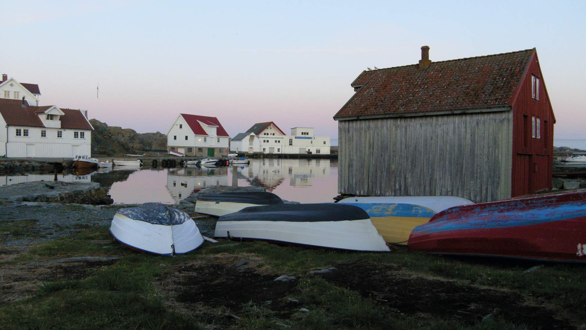
[[[447,208],[474,204],[473,201],[457,196],[388,196],[388,197],[347,197],[338,203],[414,204],[440,213]]]

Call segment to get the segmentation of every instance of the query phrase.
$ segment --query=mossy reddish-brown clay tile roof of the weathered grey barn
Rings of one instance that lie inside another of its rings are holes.
[[[364,71],[334,119],[509,106],[535,49]]]

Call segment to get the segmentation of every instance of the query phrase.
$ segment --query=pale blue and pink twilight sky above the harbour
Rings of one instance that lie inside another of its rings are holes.
[[[586,149],[586,1],[22,1],[2,5],[0,71],[41,105],[166,133],[179,113],[230,136],[273,121],[315,127],[367,67],[537,48],[554,146]],[[99,97],[97,86],[99,85]]]

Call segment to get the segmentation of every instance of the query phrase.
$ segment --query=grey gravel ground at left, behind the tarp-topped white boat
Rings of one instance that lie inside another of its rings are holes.
[[[109,226],[119,208],[138,205],[91,206],[87,204],[3,203],[0,206],[0,227],[27,224],[26,234],[18,236],[0,230],[0,247],[25,247],[31,243],[46,242],[57,237],[78,233],[88,226]],[[193,214],[192,204],[173,206]],[[213,235],[216,218],[196,219],[202,234]],[[24,222],[23,222],[24,224]]]

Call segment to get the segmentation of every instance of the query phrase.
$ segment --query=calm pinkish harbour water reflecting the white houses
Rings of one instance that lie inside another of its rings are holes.
[[[101,169],[103,170],[103,169]],[[62,173],[62,181],[98,182],[107,188],[115,204],[179,203],[194,190],[207,186],[231,185],[231,166],[217,168],[117,169],[92,173]],[[333,159],[251,159],[237,167],[239,186],[261,186],[285,200],[301,203],[331,202],[338,195],[338,160]],[[0,185],[26,181],[53,180],[53,174],[0,176]]]

